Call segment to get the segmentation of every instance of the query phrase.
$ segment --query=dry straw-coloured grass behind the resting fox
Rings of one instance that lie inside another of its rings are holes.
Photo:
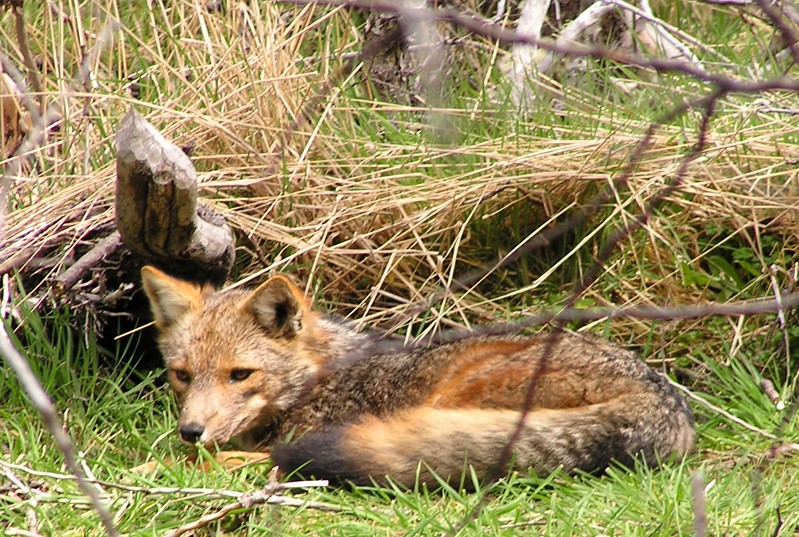
[[[359,69],[336,80],[342,54],[357,50],[357,14],[258,2],[220,13],[176,1],[153,2],[143,17],[107,4],[91,4],[81,16],[71,3],[28,6],[46,101],[63,117],[14,181],[4,228],[6,260],[24,254],[29,273],[50,261],[35,272],[42,286],[34,293],[113,227],[113,132],[133,105],[168,138],[195,146],[202,195],[236,230],[245,281],[292,271],[329,307],[389,326],[410,303],[611,187],[652,119],[639,110],[664,91],[653,84],[630,98],[637,104],[609,113],[602,97],[567,90],[564,110],[530,119],[491,105],[493,89],[474,92],[444,111],[463,129],[460,140],[435,144],[423,114],[366,99]],[[12,28],[2,24],[6,43],[16,42]],[[8,53],[19,63],[17,51]],[[81,57],[90,58],[88,76],[77,75]],[[131,83],[139,99],[129,96]],[[685,95],[693,91],[685,87]],[[545,128],[536,125],[542,118]],[[474,125],[482,130],[472,136]],[[586,270],[610,230],[628,224],[673,179],[695,125],[686,116],[660,128],[628,188],[585,229],[558,249],[534,252],[532,265],[503,268],[468,293],[447,295],[423,319],[424,330],[551,302]],[[767,267],[758,245],[764,235],[781,237],[790,257],[799,250],[797,135],[792,116],[764,112],[749,97],[726,101],[684,186],[619,246],[586,299],[718,300],[712,286],[686,282],[681,267],[704,270],[704,257],[726,243],[750,245]],[[418,334],[416,322],[394,328]]]

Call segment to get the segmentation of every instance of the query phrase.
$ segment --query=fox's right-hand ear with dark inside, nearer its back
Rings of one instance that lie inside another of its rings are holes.
[[[292,338],[302,330],[308,306],[302,291],[285,276],[274,276],[244,301],[244,307],[273,337]]]

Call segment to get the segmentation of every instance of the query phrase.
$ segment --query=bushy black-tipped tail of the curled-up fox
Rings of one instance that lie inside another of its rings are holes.
[[[273,459],[287,472],[299,468],[303,475],[359,485],[383,482],[386,476],[406,486],[417,478],[435,483],[430,470],[458,481],[466,463],[482,478],[500,462],[520,415],[515,410],[416,407],[312,432],[275,449]],[[636,455],[654,462],[685,454],[692,445],[691,416],[681,401],[637,394],[579,408],[531,411],[513,454],[516,467],[542,473],[557,467],[595,471],[611,460],[630,464]]]

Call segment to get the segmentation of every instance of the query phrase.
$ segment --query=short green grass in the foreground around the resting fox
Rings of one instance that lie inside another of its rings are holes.
[[[238,471],[202,471],[171,465],[152,475],[130,468],[152,459],[185,456],[174,433],[176,409],[156,375],[139,378],[129,367],[103,365],[135,361],[135,346],[99,349],[93,336],[77,337],[70,318],[54,314],[43,322],[25,315],[18,329],[29,360],[36,366],[81,458],[103,482],[102,497],[123,534],[162,535],[219,509],[229,499],[170,492],[163,487],[257,490],[267,484],[268,465]],[[733,329],[717,323],[727,337]],[[722,355],[723,356],[723,355]],[[694,357],[707,370],[695,392],[749,424],[773,432],[783,420],[758,387],[759,373],[738,357]],[[781,386],[777,386],[778,389]],[[99,519],[65,474],[59,451],[16,380],[0,380],[0,527],[27,529],[31,520],[42,535],[102,535]],[[788,396],[788,393],[785,393]],[[699,434],[698,451],[660,468],[611,468],[604,475],[531,476],[514,473],[489,491],[405,491],[397,488],[313,489],[289,493],[303,500],[339,506],[339,513],[307,507],[257,507],[242,510],[202,530],[236,535],[694,535],[694,479],[706,491],[708,535],[771,535],[782,516],[782,532],[799,529],[799,464],[783,454],[768,458],[772,442],[702,404],[692,403]],[[796,416],[784,428],[790,438]],[[8,479],[13,475],[14,482]],[[699,476],[698,478],[695,476]],[[21,483],[29,493],[23,492]],[[116,485],[134,487],[131,491]],[[485,497],[483,496],[485,493]],[[483,503],[484,502],[484,503]],[[482,508],[476,510],[478,505]]]

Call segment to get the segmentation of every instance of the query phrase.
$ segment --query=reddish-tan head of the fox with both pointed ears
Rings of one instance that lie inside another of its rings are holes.
[[[318,315],[284,276],[253,291],[218,291],[144,267],[142,282],[185,442],[246,444],[247,433],[290,409],[324,365],[329,342]]]

